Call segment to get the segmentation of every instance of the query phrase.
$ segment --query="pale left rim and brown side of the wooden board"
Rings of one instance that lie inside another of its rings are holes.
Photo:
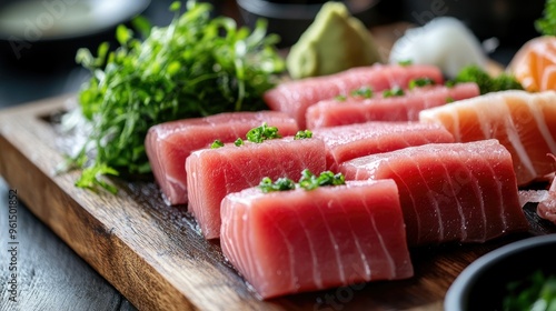
[[[221,267],[173,255],[187,241],[150,225],[157,220],[128,193],[93,193],[73,185],[76,173],[56,174],[63,158],[52,127],[41,118],[62,110],[68,98],[0,111],[0,174],[26,205],[140,309],[260,309],[264,302],[238,292],[236,283],[218,283],[232,279]]]

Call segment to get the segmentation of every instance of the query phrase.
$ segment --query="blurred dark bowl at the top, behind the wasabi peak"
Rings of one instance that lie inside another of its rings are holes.
[[[280,36],[278,47],[290,47],[311,24],[322,4],[322,0],[237,0],[239,12],[249,27],[257,19],[268,21],[268,32]],[[344,0],[350,13],[369,24],[376,16],[374,7],[379,0]]]

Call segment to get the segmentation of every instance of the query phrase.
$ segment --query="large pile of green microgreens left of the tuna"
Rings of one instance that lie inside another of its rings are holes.
[[[146,173],[148,129],[157,123],[225,111],[266,109],[262,93],[274,87],[285,63],[259,20],[252,32],[231,18],[211,18],[212,7],[187,2],[170,9],[176,17],[167,27],[150,28],[145,40],[125,26],[117,28],[121,44],[110,52],[107,43],[95,58],[81,49],[77,61],[91,72],[79,93],[82,116],[91,126],[86,144],[66,167],[82,168],[78,187],[107,187],[99,175]]]

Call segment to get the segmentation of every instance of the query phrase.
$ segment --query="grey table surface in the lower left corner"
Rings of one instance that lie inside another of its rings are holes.
[[[14,189],[14,188],[11,188]],[[23,189],[19,189],[23,190]],[[87,262],[76,260],[68,248],[22,202],[17,212],[8,211],[8,187],[0,179],[0,310],[136,310]],[[14,265],[6,255],[9,244],[8,215],[17,215],[18,253]],[[77,258],[79,259],[79,258]],[[10,270],[8,267],[16,267]],[[10,301],[8,280],[17,273],[17,301]]]

